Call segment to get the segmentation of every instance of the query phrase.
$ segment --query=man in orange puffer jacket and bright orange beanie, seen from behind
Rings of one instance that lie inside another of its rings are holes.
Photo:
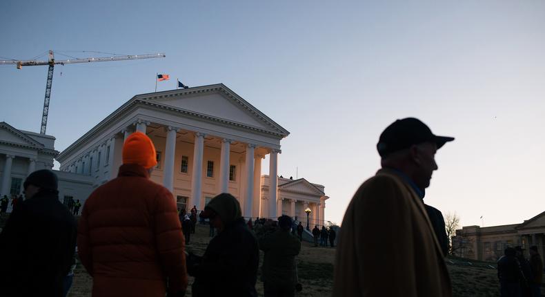
[[[83,206],[77,244],[93,278],[92,296],[185,294],[184,236],[172,193],[149,179],[155,165],[150,138],[132,133],[117,178]]]

